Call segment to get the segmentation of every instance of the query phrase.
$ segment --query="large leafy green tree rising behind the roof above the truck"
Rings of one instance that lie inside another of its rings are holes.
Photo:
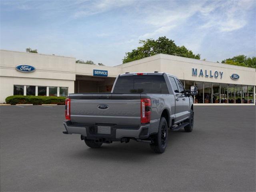
[[[200,59],[200,54],[193,54],[193,52],[188,50],[185,46],[177,46],[173,40],[169,40],[166,38],[166,36],[159,37],[157,40],[140,40],[139,43],[142,44],[142,46],[132,50],[131,52],[125,53],[123,63],[142,59],[159,53]]]

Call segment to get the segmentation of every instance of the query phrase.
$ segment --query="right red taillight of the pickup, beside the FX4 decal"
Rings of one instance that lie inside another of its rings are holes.
[[[150,122],[150,108],[151,100],[150,99],[141,99],[140,100],[140,122],[149,123]]]

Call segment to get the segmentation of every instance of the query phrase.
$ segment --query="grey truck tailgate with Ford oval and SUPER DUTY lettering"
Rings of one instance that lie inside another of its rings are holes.
[[[140,94],[70,94],[71,122],[80,124],[140,124]],[[105,106],[106,109],[100,109]]]

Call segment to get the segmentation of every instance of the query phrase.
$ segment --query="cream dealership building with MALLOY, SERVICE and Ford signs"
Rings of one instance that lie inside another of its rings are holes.
[[[11,95],[110,92],[118,74],[154,71],[173,74],[186,89],[196,85],[196,104],[255,105],[255,68],[166,54],[110,67],[78,64],[72,57],[9,50],[0,50],[0,103]]]

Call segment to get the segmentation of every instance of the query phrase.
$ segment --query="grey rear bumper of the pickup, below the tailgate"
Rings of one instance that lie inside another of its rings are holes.
[[[88,139],[107,138],[119,140],[121,138],[146,139],[150,136],[150,124],[138,127],[111,126],[111,134],[97,134],[97,126],[94,125],[74,125],[70,121],[63,122],[66,132],[64,134],[80,134]]]

